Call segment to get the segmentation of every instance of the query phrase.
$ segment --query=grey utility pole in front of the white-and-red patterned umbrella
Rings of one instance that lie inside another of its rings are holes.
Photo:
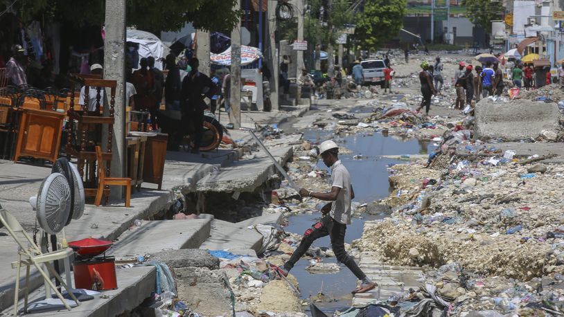
[[[235,10],[240,8],[240,0],[235,5]],[[241,20],[231,30],[231,111],[229,121],[233,123],[233,129],[241,127]]]

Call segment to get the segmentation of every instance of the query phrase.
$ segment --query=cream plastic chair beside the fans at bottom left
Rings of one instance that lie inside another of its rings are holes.
[[[41,248],[33,242],[33,239],[26,233],[24,228],[21,227],[21,224],[17,221],[17,219],[10,214],[7,210],[4,210],[0,206],[0,223],[6,227],[8,233],[12,236],[15,242],[19,246],[18,251],[18,259],[17,262],[12,262],[12,269],[17,269],[16,273],[16,287],[14,293],[14,316],[17,316],[17,302],[19,299],[19,273],[21,266],[26,266],[26,287],[25,289],[25,297],[24,297],[24,312],[27,312],[28,308],[28,295],[29,295],[29,277],[30,277],[30,266],[35,266],[35,269],[42,275],[46,287],[49,286],[55,292],[55,295],[61,300],[62,304],[65,308],[71,310],[71,307],[64,300],[61,292],[53,284],[49,275],[42,269],[41,265],[44,264],[46,268],[49,270],[49,273],[53,275],[61,285],[67,289],[67,293],[69,296],[76,302],[76,305],[80,305],[76,296],[73,295],[71,289],[63,282],[60,275],[55,271],[51,262],[68,259],[72,254],[73,251],[71,248],[62,248],[57,251],[49,252],[49,253],[42,253]],[[24,241],[22,241],[21,237],[24,237]],[[49,292],[50,293],[50,292]],[[46,294],[47,295],[47,294]],[[49,295],[50,296],[50,295]]]

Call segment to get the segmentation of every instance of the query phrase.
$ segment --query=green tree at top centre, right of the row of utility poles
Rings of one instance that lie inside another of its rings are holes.
[[[360,46],[376,49],[394,38],[403,27],[406,0],[367,0],[360,13],[354,38]]]

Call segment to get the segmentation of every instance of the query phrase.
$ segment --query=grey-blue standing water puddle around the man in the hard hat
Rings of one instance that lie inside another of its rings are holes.
[[[303,138],[312,143],[321,143],[331,136],[331,132],[322,130],[310,130],[303,134]],[[405,161],[379,156],[428,154],[435,148],[429,141],[383,136],[379,133],[373,135],[356,134],[339,139],[333,138],[333,140],[350,151],[350,153],[341,154],[340,160],[351,173],[356,195],[355,201],[360,203],[369,203],[387,197],[390,192],[387,167],[397,163],[405,163]],[[358,155],[362,155],[362,158],[358,159]],[[354,159],[353,156],[357,156],[357,159]],[[328,167],[321,160],[317,163],[317,167],[328,170]],[[285,230],[303,234],[312,224],[319,221],[320,216],[320,213],[292,216],[288,219],[289,224]],[[350,244],[354,239],[362,236],[364,221],[385,217],[387,215],[362,215],[362,218],[354,218],[353,223],[347,226],[345,242]],[[331,246],[329,237],[317,239],[313,246]],[[337,262],[335,257],[326,257],[323,260],[326,263]],[[308,260],[301,259],[292,269],[292,274],[299,282],[301,297],[312,297],[312,301],[315,301],[314,298],[316,298],[317,293],[324,293],[324,300],[315,304],[319,309],[331,314],[336,310],[343,311],[349,308],[352,300],[350,291],[356,287],[355,275],[344,265],[337,273],[311,274],[305,270],[308,264]],[[309,314],[309,311],[306,310],[306,314]]]

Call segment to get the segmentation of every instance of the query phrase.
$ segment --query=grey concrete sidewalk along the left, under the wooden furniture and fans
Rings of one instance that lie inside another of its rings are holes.
[[[254,123],[260,125],[279,124],[291,116],[305,113],[306,107],[297,107],[288,112],[245,111],[242,114],[243,127],[254,128]],[[221,122],[227,123],[227,114],[222,112]],[[248,132],[244,130],[230,130],[231,138],[250,140]],[[87,199],[85,214],[81,219],[73,220],[65,228],[67,241],[96,237],[98,239],[114,240],[125,233],[136,219],[146,219],[160,210],[168,209],[176,197],[173,188],[179,188],[186,194],[197,189],[197,182],[204,179],[212,171],[221,167],[229,167],[240,159],[243,150],[218,149],[202,154],[188,152],[167,152],[162,190],[157,185],[143,183],[140,192],[132,194],[131,208],[125,208],[123,201],[110,201],[107,206],[94,206],[93,199]],[[281,154],[287,156],[288,154]],[[246,164],[265,165],[264,156],[257,156]],[[270,168],[274,172],[274,168]],[[13,163],[0,160],[0,204],[12,213],[28,233],[35,228],[35,212],[28,199],[37,195],[43,179],[51,174],[51,167],[36,166],[26,163]],[[10,263],[17,258],[17,245],[8,235],[5,228],[0,228],[0,311],[10,307],[14,296],[15,270],[10,269]],[[33,271],[33,270],[32,270]],[[25,271],[22,271],[25,275]],[[32,289],[43,284],[38,274],[32,274]],[[24,282],[22,279],[21,282]],[[147,296],[150,291],[148,291]]]

